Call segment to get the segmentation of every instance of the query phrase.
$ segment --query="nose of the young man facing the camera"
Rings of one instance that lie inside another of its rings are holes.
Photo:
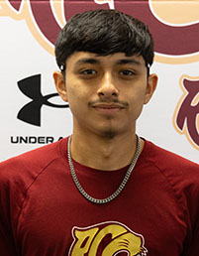
[[[102,80],[100,81],[100,86],[97,90],[97,94],[101,98],[117,98],[119,91],[114,84],[112,74],[110,72],[106,72],[103,75]]]

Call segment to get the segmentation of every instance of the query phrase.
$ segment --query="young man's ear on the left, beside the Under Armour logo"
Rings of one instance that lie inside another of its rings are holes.
[[[67,102],[67,91],[66,91],[65,81],[62,73],[59,71],[54,71],[53,81],[58,94],[61,96],[62,100]]]

